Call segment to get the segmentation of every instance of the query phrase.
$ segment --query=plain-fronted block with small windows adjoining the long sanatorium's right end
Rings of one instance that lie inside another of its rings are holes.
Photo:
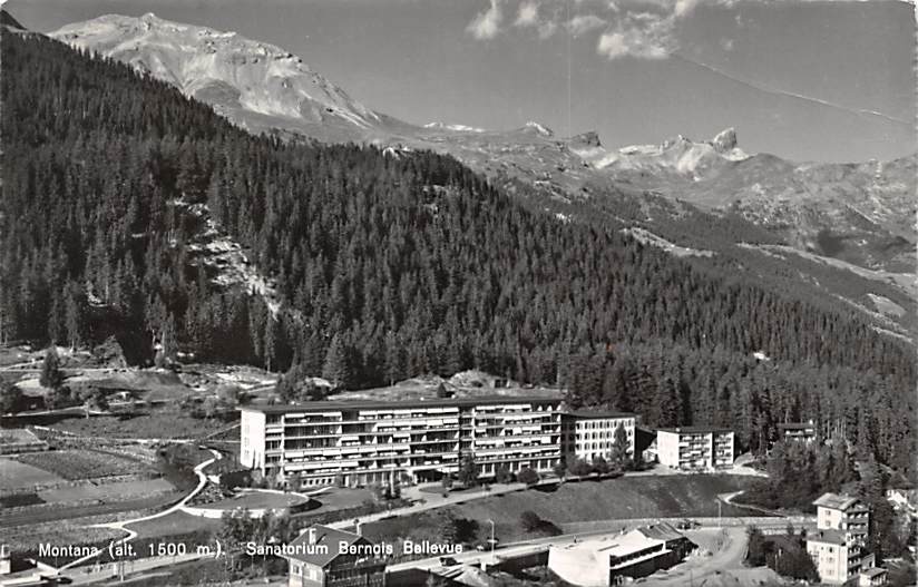
[[[615,442],[615,431],[621,425],[628,443],[628,457],[634,457],[635,423],[637,415],[629,412],[603,410],[575,410],[561,415],[561,453],[568,463],[575,459],[593,461],[597,457],[608,460]]]

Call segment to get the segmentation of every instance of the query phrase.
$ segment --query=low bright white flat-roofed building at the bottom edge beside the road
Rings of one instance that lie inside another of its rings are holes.
[[[572,585],[607,587],[670,568],[694,548],[675,528],[657,524],[615,537],[553,546],[548,568]]]

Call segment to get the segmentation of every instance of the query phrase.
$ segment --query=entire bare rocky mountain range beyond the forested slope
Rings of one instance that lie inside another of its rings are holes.
[[[174,84],[250,131],[370,143],[393,156],[449,153],[506,187],[534,187],[545,196],[534,204],[560,218],[602,213],[672,251],[725,255],[726,243],[731,255],[755,252],[753,261],[736,261],[743,267],[793,257],[802,282],[848,300],[885,327],[902,334],[916,324],[916,155],[794,163],[743,151],[732,128],[704,141],[678,136],[607,148],[596,133],[560,138],[538,123],[511,130],[413,125],[352,99],[299,56],[234,32],[148,13],[108,14],[50,36]],[[700,223],[696,214],[709,218]],[[710,223],[734,228],[715,234]]]

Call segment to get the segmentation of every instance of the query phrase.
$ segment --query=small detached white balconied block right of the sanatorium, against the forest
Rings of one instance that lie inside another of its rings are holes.
[[[725,469],[733,464],[733,431],[700,425],[661,428],[656,454],[661,463],[684,471]]]

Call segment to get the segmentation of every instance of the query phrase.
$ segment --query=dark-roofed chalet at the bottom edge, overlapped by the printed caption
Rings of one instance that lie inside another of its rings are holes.
[[[289,587],[383,587],[385,557],[367,538],[315,525],[286,545]]]

